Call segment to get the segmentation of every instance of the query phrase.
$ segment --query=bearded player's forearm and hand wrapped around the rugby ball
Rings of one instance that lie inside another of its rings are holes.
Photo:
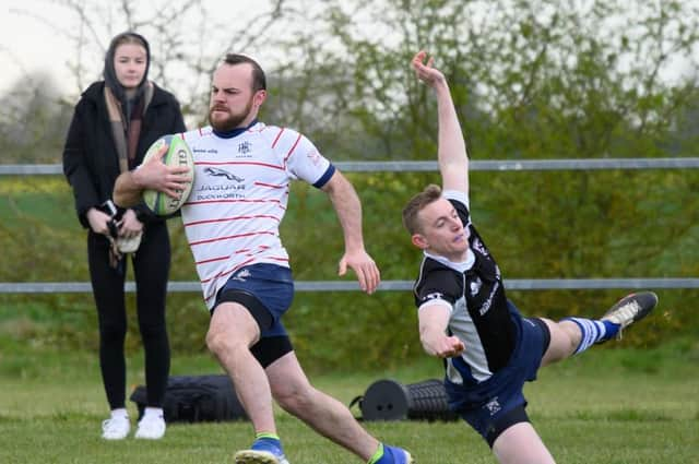
[[[166,166],[163,156],[168,145],[163,145],[156,156],[137,169],[122,172],[114,187],[114,202],[121,207],[129,207],[141,202],[143,190],[151,189],[178,199],[182,183],[191,181],[189,168],[186,166]]]

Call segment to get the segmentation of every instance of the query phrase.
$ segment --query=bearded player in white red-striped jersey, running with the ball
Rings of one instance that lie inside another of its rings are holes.
[[[365,251],[354,188],[304,135],[258,121],[265,98],[260,66],[227,55],[213,74],[211,126],[181,134],[194,156],[194,182],[181,217],[212,313],[206,344],[230,376],[256,432],[250,449],[236,453],[236,463],[288,463],[272,397],[365,462],[412,463],[405,450],[379,442],[347,407],[309,383],[282,325],[294,284],[279,226],[292,180],[330,197],[345,241],[340,275],[353,269],[368,294],[380,275]],[[115,202],[137,204],[144,189],[177,198],[188,177],[186,168],[167,167],[154,157],[117,179]]]

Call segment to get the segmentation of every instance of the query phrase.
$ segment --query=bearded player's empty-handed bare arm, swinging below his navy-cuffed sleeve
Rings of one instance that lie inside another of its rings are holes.
[[[371,294],[381,282],[379,267],[364,248],[362,234],[362,203],[352,183],[340,172],[330,178],[322,187],[337,213],[345,239],[345,253],[340,259],[339,275],[347,272],[347,266],[357,274],[359,287]]]

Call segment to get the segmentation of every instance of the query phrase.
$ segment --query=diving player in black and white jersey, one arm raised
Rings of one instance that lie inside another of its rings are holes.
[[[502,276],[476,231],[469,203],[466,146],[445,75],[419,51],[417,78],[437,98],[442,186],[428,186],[403,210],[403,224],[424,258],[415,282],[424,349],[445,358],[449,405],[503,464],[554,457],[530,423],[522,389],[541,366],[620,335],[657,304],[652,292],[626,296],[601,319],[554,322],[525,318],[508,300]]]

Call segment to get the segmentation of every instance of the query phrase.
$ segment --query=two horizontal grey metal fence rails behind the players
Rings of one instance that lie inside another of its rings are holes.
[[[437,162],[336,162],[343,171],[436,171]],[[594,169],[696,169],[698,157],[682,158],[600,158],[472,160],[470,170],[594,170]],[[0,165],[0,176],[62,175],[61,165]],[[511,290],[601,289],[601,288],[699,288],[699,278],[523,278],[506,279]],[[356,282],[299,281],[298,292],[357,292]],[[410,290],[412,281],[384,281],[379,290]],[[135,284],[127,282],[127,292]],[[92,285],[81,282],[0,283],[0,294],[91,293]],[[201,292],[198,282],[169,282],[168,292]]]

